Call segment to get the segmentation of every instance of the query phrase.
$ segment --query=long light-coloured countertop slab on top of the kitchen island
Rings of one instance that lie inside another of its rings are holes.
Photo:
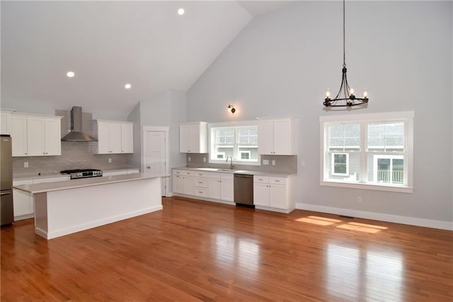
[[[157,177],[168,177],[169,175],[160,175]],[[62,191],[67,189],[83,188],[86,186],[101,186],[103,184],[115,184],[117,182],[137,181],[140,179],[153,179],[156,176],[151,176],[144,173],[113,175],[108,177],[89,177],[84,179],[71,179],[65,181],[52,181],[40,184],[21,184],[13,186],[13,189],[18,189],[31,194],[38,194],[52,191]]]

